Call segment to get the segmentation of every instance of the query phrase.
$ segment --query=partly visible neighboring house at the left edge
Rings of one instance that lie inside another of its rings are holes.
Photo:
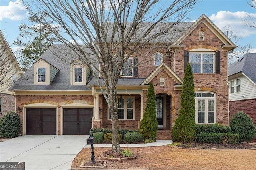
[[[15,111],[15,93],[8,91],[23,71],[0,30],[0,117]]]

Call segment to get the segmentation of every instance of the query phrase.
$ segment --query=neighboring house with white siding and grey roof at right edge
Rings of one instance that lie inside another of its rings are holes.
[[[228,67],[230,118],[238,111],[256,125],[256,53],[246,53]]]

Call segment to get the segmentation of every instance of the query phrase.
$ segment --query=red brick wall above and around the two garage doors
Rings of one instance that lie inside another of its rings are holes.
[[[92,95],[16,95],[16,108],[20,107],[21,132],[23,134],[23,106],[32,103],[50,103],[58,107],[58,134],[60,134],[60,106],[73,103],[74,100],[84,101],[94,105]]]

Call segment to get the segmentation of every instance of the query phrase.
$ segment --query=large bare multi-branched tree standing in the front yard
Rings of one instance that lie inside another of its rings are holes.
[[[160,42],[168,42],[173,35],[182,33],[184,28],[178,24],[187,19],[196,0],[38,0],[23,3],[44,26],[48,25],[47,20],[60,25],[58,32],[48,29],[92,71],[110,108],[112,150],[120,152],[116,86],[122,67],[131,56],[141,55],[138,64],[144,62],[153,51],[168,44]],[[38,12],[47,17],[39,20]],[[163,38],[166,41],[160,41]],[[80,42],[86,48],[79,45]],[[147,53],[140,53],[139,49]],[[100,83],[98,72],[104,84]]]

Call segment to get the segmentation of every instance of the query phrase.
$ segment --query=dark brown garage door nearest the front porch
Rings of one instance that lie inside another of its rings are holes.
[[[64,108],[63,134],[89,134],[92,115],[92,108]]]

